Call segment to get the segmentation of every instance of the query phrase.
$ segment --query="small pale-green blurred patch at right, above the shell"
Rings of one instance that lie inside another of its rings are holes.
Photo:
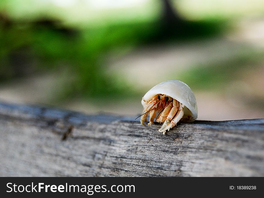
[[[239,81],[241,71],[250,71],[263,61],[264,52],[245,49],[229,59],[193,65],[190,69],[174,75],[194,90],[221,90],[226,84]]]

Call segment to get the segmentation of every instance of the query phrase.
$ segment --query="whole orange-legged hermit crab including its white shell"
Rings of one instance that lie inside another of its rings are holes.
[[[179,121],[191,123],[197,118],[193,91],[182,81],[170,80],[157,84],[143,96],[141,104],[144,108],[142,115],[139,116],[141,124],[145,125],[148,114],[148,124],[153,124],[158,114],[155,122],[163,123],[159,129],[163,134]]]

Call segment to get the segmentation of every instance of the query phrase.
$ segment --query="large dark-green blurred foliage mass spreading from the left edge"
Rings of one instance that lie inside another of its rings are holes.
[[[74,78],[61,96],[130,95],[125,79],[105,72],[105,54],[128,53],[142,44],[208,37],[223,31],[217,20],[187,21],[164,26],[162,17],[85,28],[64,26],[54,18],[14,21],[2,14],[0,23],[0,81],[68,67]],[[71,76],[71,77],[72,77]],[[70,78],[70,76],[69,76]]]

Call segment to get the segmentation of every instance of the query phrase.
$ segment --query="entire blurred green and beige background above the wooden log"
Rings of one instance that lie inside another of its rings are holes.
[[[136,116],[171,79],[199,120],[263,118],[264,1],[0,1],[0,102]]]

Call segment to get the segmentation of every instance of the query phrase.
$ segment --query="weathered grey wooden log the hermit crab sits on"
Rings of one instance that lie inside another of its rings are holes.
[[[264,176],[264,119],[160,126],[0,103],[0,176]]]

